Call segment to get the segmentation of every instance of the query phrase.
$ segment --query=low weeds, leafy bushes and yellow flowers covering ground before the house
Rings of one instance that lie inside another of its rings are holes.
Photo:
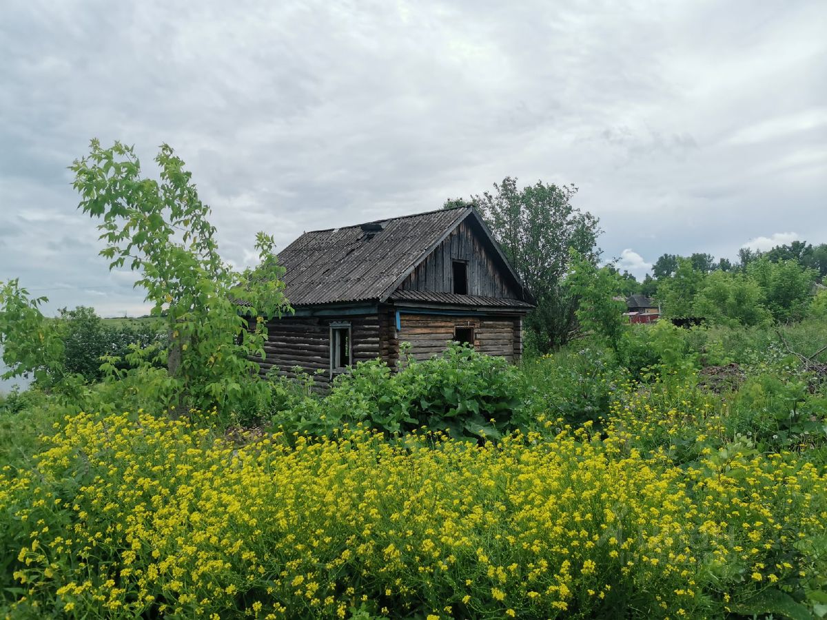
[[[456,347],[327,396],[275,381],[255,432],[120,408],[31,425],[0,485],[9,609],[822,615],[827,390],[789,350],[825,325],[664,326],[624,335],[655,351],[637,374],[599,340],[520,369]],[[57,419],[36,394],[4,419]],[[469,441],[476,408],[497,436]]]

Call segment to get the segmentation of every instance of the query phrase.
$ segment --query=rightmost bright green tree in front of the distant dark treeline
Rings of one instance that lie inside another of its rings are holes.
[[[815,269],[802,267],[796,260],[772,262],[762,256],[748,265],[747,274],[761,287],[764,305],[776,321],[797,321],[805,316]]]

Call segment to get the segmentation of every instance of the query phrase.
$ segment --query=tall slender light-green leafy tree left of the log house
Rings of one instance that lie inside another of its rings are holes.
[[[168,145],[155,162],[160,182],[144,177],[130,146],[97,140],[75,160],[74,188],[84,213],[101,220],[110,269],[137,271],[136,286],[164,317],[174,408],[242,408],[265,390],[254,358],[264,358],[265,317],[289,311],[271,236],[259,233],[259,265],[239,272],[222,260],[191,173]],[[243,308],[244,312],[240,312]]]

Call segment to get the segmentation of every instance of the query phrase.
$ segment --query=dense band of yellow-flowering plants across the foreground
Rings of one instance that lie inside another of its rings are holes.
[[[541,418],[481,446],[361,427],[238,442],[148,413],[67,416],[36,467],[0,474],[7,613],[810,617],[825,475],[738,442],[677,466],[634,437],[680,413],[626,397],[605,432]]]

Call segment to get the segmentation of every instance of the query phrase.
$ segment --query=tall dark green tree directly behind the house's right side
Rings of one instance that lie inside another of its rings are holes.
[[[494,184],[493,193],[472,196],[496,241],[538,307],[526,317],[526,327],[538,338],[541,351],[564,344],[576,330],[576,299],[564,277],[569,249],[597,263],[600,234],[597,218],[571,205],[577,188],[538,181],[519,189],[517,179]]]

